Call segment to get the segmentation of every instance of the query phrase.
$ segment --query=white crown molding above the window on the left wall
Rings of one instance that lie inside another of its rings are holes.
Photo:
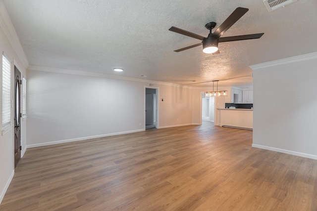
[[[6,38],[11,43],[14,51],[16,52],[24,68],[26,69],[29,66],[29,62],[26,58],[25,52],[16,34],[16,31],[11,22],[11,19],[5,9],[3,1],[0,1],[0,28],[4,32]]]

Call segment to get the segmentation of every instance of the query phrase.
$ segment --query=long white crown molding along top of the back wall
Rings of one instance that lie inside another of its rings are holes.
[[[115,75],[108,75],[108,74],[103,74],[103,73],[93,73],[93,72],[87,72],[87,71],[69,70],[69,69],[61,69],[61,68],[53,68],[53,67],[41,67],[41,66],[29,65],[29,67],[27,69],[28,70],[35,70],[35,71],[43,71],[43,72],[80,75],[80,76],[92,76],[92,77],[102,77],[102,78],[109,78],[109,79],[120,79],[120,80],[134,81],[134,82],[142,82],[142,83],[146,83],[146,84],[162,84],[162,85],[179,86],[179,87],[185,87],[185,88],[193,88],[191,86],[172,84],[172,83],[167,83],[167,82],[150,81],[150,80],[145,80],[145,79],[136,79],[136,78],[131,78],[131,77],[115,76]]]

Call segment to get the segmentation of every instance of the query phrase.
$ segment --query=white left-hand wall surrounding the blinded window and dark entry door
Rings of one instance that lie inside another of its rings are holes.
[[[25,54],[22,50],[20,42],[13,28],[13,25],[6,13],[3,2],[0,1],[0,66],[2,69],[2,52],[5,52],[12,60],[13,65],[16,65],[21,71],[21,76],[26,76],[26,66],[28,65]],[[13,68],[11,75],[13,76]],[[13,77],[12,77],[12,99],[13,99]],[[0,98],[2,99],[2,74],[0,74]],[[0,111],[2,111],[2,104],[0,103]],[[13,124],[13,109],[11,122]],[[0,122],[2,122],[2,112],[0,112]],[[26,119],[21,122],[21,144],[22,156],[26,147]],[[2,128],[1,128],[2,130]],[[4,134],[0,134],[0,203],[3,199],[4,193],[14,174],[14,140],[13,127],[6,130]]]

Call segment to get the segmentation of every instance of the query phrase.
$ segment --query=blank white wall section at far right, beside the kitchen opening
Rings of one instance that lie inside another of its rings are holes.
[[[317,159],[317,53],[252,66],[253,146]]]

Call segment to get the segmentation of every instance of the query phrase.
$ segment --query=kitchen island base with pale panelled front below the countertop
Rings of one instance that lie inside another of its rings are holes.
[[[218,108],[219,126],[253,128],[253,109]]]

